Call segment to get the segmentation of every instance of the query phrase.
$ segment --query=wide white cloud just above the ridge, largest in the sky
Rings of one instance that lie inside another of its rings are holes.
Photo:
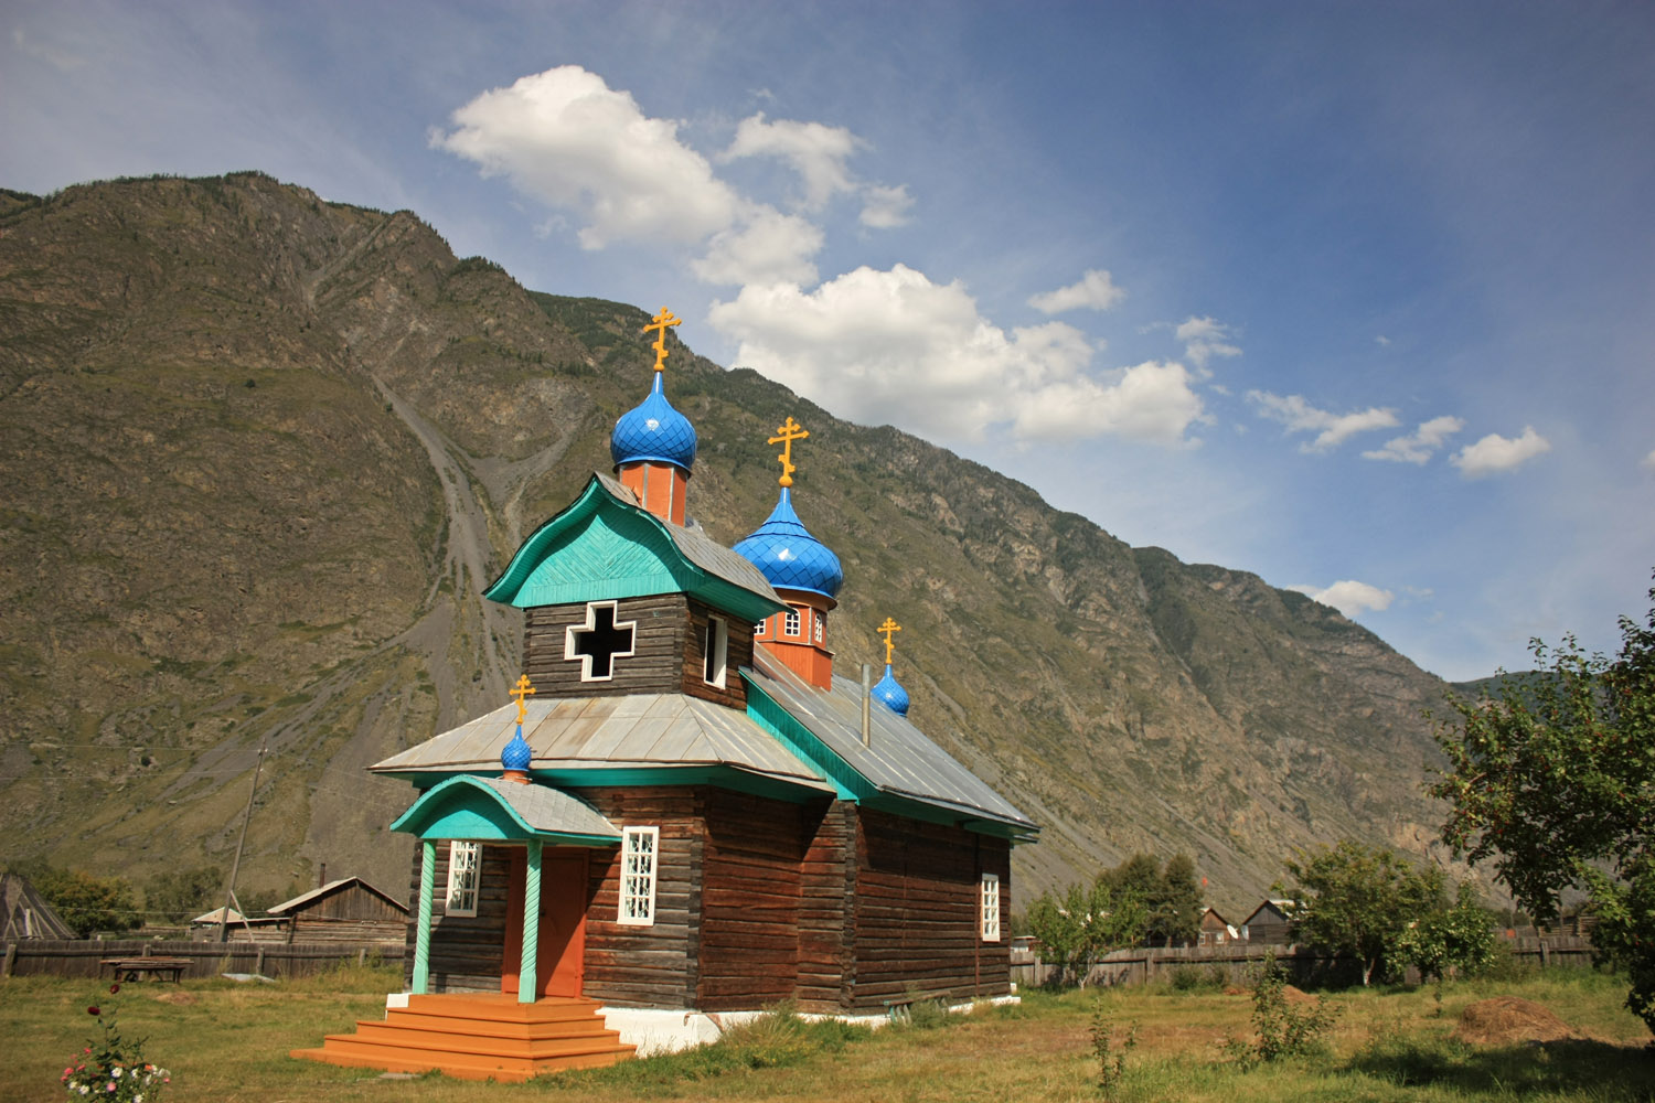
[[[1177,364],[1087,374],[1094,346],[1064,322],[1005,329],[960,283],[897,265],[857,268],[814,291],[746,286],[708,313],[751,367],[866,423],[943,438],[1005,425],[1019,438],[1122,435],[1187,443],[1200,397]]]

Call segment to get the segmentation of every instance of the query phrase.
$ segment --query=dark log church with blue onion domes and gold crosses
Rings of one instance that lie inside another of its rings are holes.
[[[907,719],[895,623],[877,685],[834,673],[842,572],[793,508],[791,417],[751,536],[728,549],[685,521],[674,324],[649,326],[655,379],[616,423],[616,478],[485,592],[525,610],[516,701],[372,767],[419,790],[392,824],[420,840],[409,992],[295,1055],[521,1078],[778,1000],[882,1015],[1011,992],[1001,901],[1036,825]],[[445,1034],[455,1009],[493,1025]],[[548,1048],[551,1017],[586,1042]]]

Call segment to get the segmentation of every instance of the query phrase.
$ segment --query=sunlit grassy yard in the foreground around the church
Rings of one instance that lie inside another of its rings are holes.
[[[146,1058],[174,1075],[162,1096],[174,1103],[1655,1100],[1655,1048],[1643,1024],[1620,1007],[1625,984],[1584,971],[1451,984],[1442,1015],[1430,989],[1339,992],[1331,997],[1341,1014],[1324,1053],[1253,1067],[1238,1063],[1225,1045],[1251,1035],[1246,996],[1167,986],[1031,992],[1021,1007],[971,1015],[920,1009],[912,1025],[879,1032],[770,1019],[707,1050],[526,1085],[382,1080],[286,1057],[290,1048],[319,1043],[323,1034],[348,1030],[356,1019],[379,1017],[384,992],[397,981],[392,971],[344,969],[271,986],[127,984],[118,997],[89,981],[0,981],[0,1039],[10,1055],[0,1101],[63,1098],[58,1077],[96,1030],[86,1014],[94,1002],[106,1012],[118,1007],[122,1034],[147,1039]],[[1579,1040],[1473,1047],[1448,1039],[1468,1004],[1508,994],[1546,1005]],[[1092,1024],[1099,1010],[1117,1042],[1129,1027],[1137,1030],[1111,1093],[1097,1085]]]

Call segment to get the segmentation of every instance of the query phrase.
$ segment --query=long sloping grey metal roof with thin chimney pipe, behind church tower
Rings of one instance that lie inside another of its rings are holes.
[[[905,716],[879,701],[869,711],[872,746],[862,746],[859,681],[834,676],[832,690],[818,690],[765,648],[753,652],[755,668],[741,673],[882,792],[1039,830],[1034,820],[1018,812],[988,782],[932,742]]]

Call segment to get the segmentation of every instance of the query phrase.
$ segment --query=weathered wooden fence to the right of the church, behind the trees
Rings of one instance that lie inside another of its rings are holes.
[[[1592,964],[1592,944],[1572,934],[1544,938],[1501,939],[1518,961],[1542,967],[1585,967]],[[1086,976],[1087,987],[1114,984],[1149,984],[1170,981],[1175,969],[1218,969],[1226,984],[1250,986],[1264,962],[1264,954],[1274,951],[1276,961],[1298,986],[1339,986],[1360,981],[1360,967],[1349,957],[1337,957],[1299,946],[1254,946],[1230,943],[1226,946],[1185,946],[1173,949],[1117,949],[1092,962]],[[1039,961],[1034,953],[1013,953],[1011,979],[1018,984],[1041,986],[1051,979],[1053,966]]]

